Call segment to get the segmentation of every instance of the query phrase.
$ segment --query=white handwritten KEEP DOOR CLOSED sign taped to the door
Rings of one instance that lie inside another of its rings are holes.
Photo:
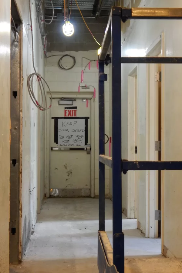
[[[85,146],[85,119],[59,119],[58,145]]]

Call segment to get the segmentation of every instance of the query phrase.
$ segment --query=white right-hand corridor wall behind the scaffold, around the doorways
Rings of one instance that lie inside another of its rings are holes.
[[[141,7],[171,7],[182,8],[180,0],[143,0]],[[132,29],[129,27],[123,34],[122,56],[137,56],[143,54],[152,43],[164,32],[164,56],[182,56],[182,39],[179,33],[182,29],[180,20],[140,20],[133,21]],[[125,39],[125,41],[124,41]],[[142,51],[141,51],[142,50]],[[134,65],[122,65],[122,131],[123,158],[127,157],[127,105],[128,105],[128,74]],[[139,89],[139,160],[146,160],[147,135],[146,135],[146,91],[147,91],[147,66],[138,66]],[[162,160],[181,160],[182,146],[182,92],[181,92],[182,65],[163,65],[163,91],[162,91]],[[127,183],[127,177],[126,183]],[[181,172],[163,172],[163,245],[168,256],[182,257],[182,199],[181,199]],[[139,176],[139,218],[143,232],[147,233],[146,223],[148,213],[146,210],[147,174],[140,172]],[[148,194],[148,192],[147,192]],[[127,195],[125,196],[127,199]],[[123,200],[123,203],[126,200]],[[147,217],[146,217],[147,216]]]

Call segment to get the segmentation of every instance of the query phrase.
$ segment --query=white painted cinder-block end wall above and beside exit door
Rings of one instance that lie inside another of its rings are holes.
[[[76,65],[68,71],[62,70],[58,66],[58,60],[61,56],[54,56],[48,58],[45,64],[45,79],[48,82],[52,92],[78,92],[78,86],[81,79],[81,61],[82,57],[86,57],[91,60],[97,60],[98,55],[96,51],[89,52],[48,52],[48,56],[56,54],[70,54],[75,56]],[[89,61],[83,59],[83,68]],[[63,65],[70,67],[72,60],[63,60]],[[109,68],[106,68],[106,72],[109,74]],[[99,194],[99,107],[98,107],[98,70],[96,62],[91,63],[90,70],[88,66],[84,73],[84,83],[86,85],[93,85],[96,88],[96,100],[95,100],[95,195]],[[90,89],[90,91],[92,91]],[[105,82],[105,133],[109,135],[109,76],[108,81]],[[109,143],[105,145],[106,154],[109,155]],[[109,167],[106,167],[106,195],[109,195]]]

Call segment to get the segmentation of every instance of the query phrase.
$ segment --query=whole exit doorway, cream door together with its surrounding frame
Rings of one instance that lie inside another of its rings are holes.
[[[94,197],[93,94],[59,95],[47,114],[46,196]]]

